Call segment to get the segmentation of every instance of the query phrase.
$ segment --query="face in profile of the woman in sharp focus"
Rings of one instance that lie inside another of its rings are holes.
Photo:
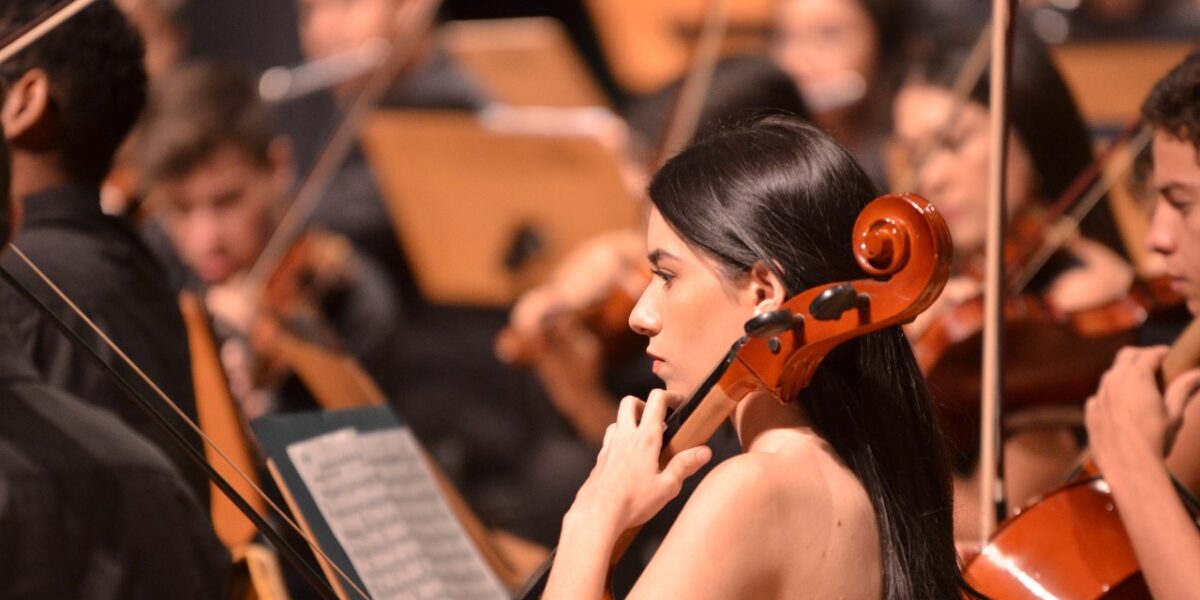
[[[629,317],[647,337],[654,374],[670,391],[691,395],[744,335],[757,298],[750,277],[731,281],[650,211],[647,248],[654,278]]]

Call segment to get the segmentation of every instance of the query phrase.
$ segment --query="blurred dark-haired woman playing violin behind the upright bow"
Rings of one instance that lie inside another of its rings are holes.
[[[1013,217],[1054,202],[1092,160],[1087,131],[1066,84],[1045,48],[1026,34],[1016,36],[1009,94],[1013,130],[1007,200]],[[959,101],[952,91],[953,82],[968,50],[968,44],[942,43],[932,48],[914,62],[895,101],[896,138],[916,167],[913,191],[946,215],[959,272],[983,253],[991,128],[986,74],[955,113]],[[956,119],[949,121],[955,114]],[[1081,230],[1084,236],[1057,252],[1027,290],[1063,311],[1114,300],[1124,294],[1133,278],[1132,268],[1117,253],[1120,245],[1106,203],[1097,206]],[[953,277],[910,334],[919,335],[937,318],[977,296],[979,286],[972,277]],[[1033,428],[1012,436],[1004,456],[1014,508],[1061,480],[1076,446],[1074,432],[1063,427]],[[956,450],[959,469],[973,469],[976,451]],[[971,538],[970,530],[978,522],[971,516],[978,505],[971,499],[977,491],[962,478],[955,484],[958,533],[960,538]]]

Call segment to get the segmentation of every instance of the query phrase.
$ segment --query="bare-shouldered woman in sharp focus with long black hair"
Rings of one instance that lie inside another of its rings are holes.
[[[743,324],[864,276],[835,248],[872,197],[842,148],[778,116],[695,143],[654,178],[655,277],[630,325],[666,390],[623,400],[564,517],[545,598],[600,598],[620,532],[707,462],[701,446],[659,468],[664,414]],[[701,482],[631,598],[961,596],[947,460],[899,328],[836,348],[798,397],[751,395],[732,419],[744,454]]]

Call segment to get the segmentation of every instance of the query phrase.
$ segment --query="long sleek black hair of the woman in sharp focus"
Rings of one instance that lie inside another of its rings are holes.
[[[792,295],[866,276],[850,248],[871,181],[832,137],[800,121],[758,118],[701,139],[662,167],[649,196],[730,277],[762,263]],[[836,348],[794,400],[871,499],[883,598],[961,598],[949,466],[900,328]]]

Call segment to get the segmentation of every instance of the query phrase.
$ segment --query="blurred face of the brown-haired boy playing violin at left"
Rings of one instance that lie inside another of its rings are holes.
[[[284,187],[282,178],[226,144],[184,176],[151,190],[180,258],[208,284],[258,258]]]

